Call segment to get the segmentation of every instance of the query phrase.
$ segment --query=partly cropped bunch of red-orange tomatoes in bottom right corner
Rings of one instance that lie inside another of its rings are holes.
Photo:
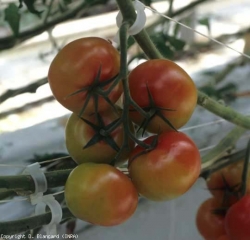
[[[206,240],[250,239],[250,170],[246,194],[241,195],[243,161],[230,164],[210,175],[207,187],[212,198],[201,204],[196,225]]]

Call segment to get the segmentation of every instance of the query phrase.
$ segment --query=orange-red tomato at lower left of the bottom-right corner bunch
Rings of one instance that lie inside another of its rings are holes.
[[[225,217],[213,214],[212,211],[220,208],[221,202],[216,198],[209,198],[201,204],[196,215],[196,226],[200,234],[208,240],[217,240],[225,235]]]

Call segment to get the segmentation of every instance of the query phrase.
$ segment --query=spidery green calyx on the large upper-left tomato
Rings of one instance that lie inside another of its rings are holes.
[[[77,90],[77,91],[75,91],[75,92],[73,92],[65,97],[65,99],[66,99],[66,98],[69,98],[69,97],[74,96],[76,94],[79,94],[81,92],[87,93],[86,100],[83,104],[83,107],[82,107],[80,113],[78,114],[79,117],[81,117],[83,115],[91,98],[94,98],[95,112],[98,112],[98,98],[99,98],[99,96],[103,97],[104,100],[117,112],[117,108],[110,101],[110,99],[108,98],[108,95],[105,94],[105,92],[103,91],[103,87],[105,87],[108,84],[110,84],[111,82],[113,82],[118,75],[114,76],[113,78],[111,78],[107,81],[100,82],[101,72],[102,72],[102,65],[100,64],[98,72],[97,72],[97,74],[94,78],[94,81],[91,85],[83,87],[83,88],[81,88],[81,89],[79,89],[79,90]]]

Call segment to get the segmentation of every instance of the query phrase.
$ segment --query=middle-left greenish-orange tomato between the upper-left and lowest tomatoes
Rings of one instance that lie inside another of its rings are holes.
[[[120,110],[119,113],[121,114]],[[90,123],[86,123],[75,113],[72,113],[67,122],[65,128],[66,148],[69,152],[69,155],[78,164],[85,162],[110,163],[123,144],[124,128],[122,124],[115,128],[106,137],[100,134],[101,129],[107,128],[109,124],[119,119],[120,115],[114,112],[113,109],[109,109],[109,111],[101,112],[100,117],[103,121],[103,126],[99,125],[95,114],[84,117],[84,119]],[[133,131],[132,122],[130,129]],[[84,148],[84,146],[94,137],[98,138],[98,142],[87,148]],[[113,144],[115,144],[118,149],[112,148],[109,145],[109,142],[113,142]],[[134,146],[134,142],[130,140],[129,147],[131,151]],[[128,159],[129,153],[131,151],[124,149],[117,164],[121,164],[126,159]]]

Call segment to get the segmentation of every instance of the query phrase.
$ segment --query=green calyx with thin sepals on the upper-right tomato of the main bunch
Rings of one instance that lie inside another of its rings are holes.
[[[149,105],[147,107],[142,107],[142,109],[147,113],[147,117],[143,120],[141,125],[139,126],[137,132],[139,132],[141,129],[142,136],[144,135],[147,126],[152,121],[152,119],[156,116],[159,116],[166,124],[168,124],[173,130],[177,131],[177,129],[173,126],[173,124],[162,114],[162,111],[175,111],[175,109],[171,108],[163,108],[159,107],[155,104],[155,101],[153,99],[153,96],[149,90],[148,84],[146,83],[147,93],[148,93],[148,99],[149,99]],[[134,109],[131,109],[130,111],[135,111]]]

